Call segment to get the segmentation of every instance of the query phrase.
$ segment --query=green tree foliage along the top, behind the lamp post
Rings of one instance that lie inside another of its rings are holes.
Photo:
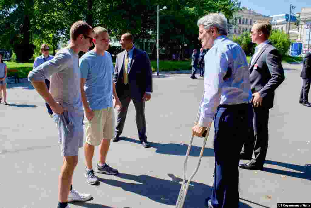
[[[237,0],[0,0],[0,44],[25,61],[33,54],[32,43],[55,49],[59,40],[67,41],[77,20],[106,27],[117,38],[130,32],[134,40],[156,39],[157,5],[168,8],[160,12],[160,45],[168,55],[185,44],[200,47],[199,17],[223,12],[230,19],[239,9]]]

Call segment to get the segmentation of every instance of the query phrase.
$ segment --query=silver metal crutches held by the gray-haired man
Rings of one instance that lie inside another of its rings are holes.
[[[198,123],[199,118],[200,118],[203,97],[204,97],[204,92],[203,92],[202,99],[201,99],[201,102],[200,102],[199,110],[197,112],[197,119],[195,121],[195,125]],[[180,191],[179,191],[179,194],[178,194],[178,198],[177,198],[177,202],[176,202],[175,208],[183,208],[183,204],[185,202],[185,198],[186,198],[186,194],[187,194],[187,191],[188,191],[188,188],[189,188],[189,185],[190,185],[190,181],[192,180],[192,178],[197,173],[197,171],[198,171],[198,169],[200,167],[202,155],[203,155],[203,152],[204,152],[204,148],[205,148],[205,144],[206,144],[206,141],[207,141],[207,137],[208,137],[210,128],[211,128],[211,125],[209,125],[207,127],[207,129],[204,131],[204,133],[202,135],[204,137],[204,141],[203,141],[202,149],[201,149],[201,152],[200,152],[199,161],[197,163],[197,167],[194,170],[194,172],[192,173],[192,175],[190,176],[190,178],[188,179],[188,182],[185,183],[185,181],[186,181],[186,174],[187,174],[187,160],[188,160],[188,157],[189,157],[189,153],[190,153],[190,149],[192,147],[193,137],[194,137],[194,134],[192,133],[192,137],[191,137],[190,142],[189,142],[188,150],[187,150],[187,153],[186,153],[186,158],[185,158],[184,165],[183,165],[183,182],[181,184],[181,188],[180,188]]]

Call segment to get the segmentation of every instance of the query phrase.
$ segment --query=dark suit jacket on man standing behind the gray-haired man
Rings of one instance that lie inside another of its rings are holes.
[[[263,98],[262,107],[270,109],[273,107],[274,90],[285,79],[281,55],[268,43],[255,57],[253,64],[252,59],[249,63],[251,90],[258,91]]]

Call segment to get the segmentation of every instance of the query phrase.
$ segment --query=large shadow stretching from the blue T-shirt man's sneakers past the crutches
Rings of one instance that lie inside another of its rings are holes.
[[[160,179],[148,175],[130,175],[119,173],[116,177],[126,180],[136,181],[136,183],[123,182],[118,180],[98,178],[102,183],[122,188],[124,191],[130,191],[135,194],[148,197],[149,199],[166,205],[175,205],[181,187],[181,178],[168,174],[171,180]],[[211,186],[203,183],[190,182],[187,192],[184,208],[205,208],[205,198],[211,196]],[[250,206],[241,203],[240,207],[249,208]]]

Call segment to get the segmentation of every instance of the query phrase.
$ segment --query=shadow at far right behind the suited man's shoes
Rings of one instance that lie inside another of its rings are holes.
[[[285,171],[285,170],[274,169],[274,168],[269,168],[269,167],[264,167],[263,171],[275,173],[275,174],[281,174],[281,175],[290,176],[290,177],[295,177],[295,178],[303,178],[303,179],[311,180],[311,165],[310,164],[306,164],[302,166],[302,165],[295,165],[295,164],[284,163],[284,162],[276,162],[276,161],[271,161],[271,160],[266,160],[265,163],[289,168],[289,169],[299,171],[299,172]]]

